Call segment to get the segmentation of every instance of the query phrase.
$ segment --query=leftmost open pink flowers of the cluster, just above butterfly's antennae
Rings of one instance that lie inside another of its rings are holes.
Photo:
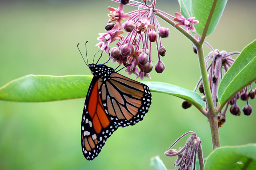
[[[118,26],[115,25],[112,30],[108,31],[108,33],[100,33],[100,37],[97,38],[100,42],[96,44],[96,46],[99,46],[99,48],[106,53],[109,53],[110,50],[110,43],[114,42],[115,40],[123,40],[124,36],[121,36],[120,34],[123,34],[124,32],[121,30],[118,30]]]

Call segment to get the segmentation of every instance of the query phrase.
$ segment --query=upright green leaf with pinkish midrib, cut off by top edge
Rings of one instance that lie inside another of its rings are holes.
[[[222,16],[227,1],[228,0],[217,1],[206,36],[209,36],[215,30],[220,20],[220,17]],[[202,36],[203,34],[204,26],[210,14],[213,2],[214,0],[190,0],[191,17],[196,17],[195,20],[199,20],[199,23],[194,25],[194,27],[196,28],[196,32],[200,36]]]

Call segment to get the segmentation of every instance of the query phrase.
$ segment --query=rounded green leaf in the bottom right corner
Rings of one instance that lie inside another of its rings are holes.
[[[256,144],[217,148],[207,158],[204,170],[255,170]]]

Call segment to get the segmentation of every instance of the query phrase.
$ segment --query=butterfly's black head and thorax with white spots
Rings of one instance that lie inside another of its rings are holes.
[[[112,67],[108,67],[105,64],[89,64],[89,69],[91,70],[93,76],[100,78],[108,78],[112,73],[114,73],[114,69]]]

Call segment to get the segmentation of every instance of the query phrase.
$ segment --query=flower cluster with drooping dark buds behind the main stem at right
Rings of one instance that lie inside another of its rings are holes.
[[[206,43],[206,42],[205,42]],[[206,43],[209,45],[208,43]],[[209,45],[210,46],[210,45]],[[208,80],[210,83],[210,89],[211,91],[216,91],[218,82],[222,79],[223,74],[228,71],[228,69],[231,67],[231,65],[234,63],[234,59],[232,59],[232,55],[240,54],[240,52],[226,52],[226,51],[219,51],[218,49],[213,49],[211,46],[210,48],[212,51],[205,57],[205,63],[206,63],[206,68],[208,72]],[[220,80],[219,80],[220,79]],[[254,81],[256,84],[256,81]],[[201,93],[204,94],[204,87],[202,84],[202,79],[198,81],[198,84],[196,85],[196,88],[194,91],[199,89]],[[230,113],[232,115],[240,116],[241,111],[239,106],[236,104],[237,100],[240,98],[243,101],[246,101],[246,105],[242,108],[242,111],[244,115],[249,116],[252,114],[252,107],[249,105],[249,99],[254,99],[256,94],[255,94],[256,89],[252,89],[252,85],[248,85],[244,89],[242,89],[240,92],[238,92],[236,95],[234,95],[226,104],[226,108],[224,111],[220,111],[218,115],[218,125],[221,127],[225,122],[226,122],[226,112],[228,111],[228,106],[231,105],[230,107]],[[216,94],[212,94],[213,98],[215,98],[215,101],[218,101],[218,98]],[[205,97],[203,97],[205,99]],[[216,103],[215,102],[215,103]],[[188,102],[184,101],[182,103],[182,107],[184,109],[188,108]],[[191,104],[189,105],[189,107]]]

